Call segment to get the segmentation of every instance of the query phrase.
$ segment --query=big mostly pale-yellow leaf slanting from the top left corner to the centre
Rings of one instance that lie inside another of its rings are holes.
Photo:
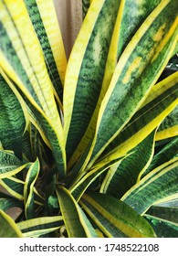
[[[65,176],[63,128],[55,101],[54,87],[48,76],[45,57],[26,5],[22,0],[4,1],[0,2],[0,7],[1,67],[15,82],[29,108],[41,117],[40,123],[54,149],[57,162],[60,159],[60,176]]]

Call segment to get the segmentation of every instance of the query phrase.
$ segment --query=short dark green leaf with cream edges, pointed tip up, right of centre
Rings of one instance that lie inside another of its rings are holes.
[[[101,186],[104,194],[120,198],[137,182],[140,172],[152,161],[154,135],[155,131],[134,147],[133,153],[124,158],[119,165],[110,167]]]

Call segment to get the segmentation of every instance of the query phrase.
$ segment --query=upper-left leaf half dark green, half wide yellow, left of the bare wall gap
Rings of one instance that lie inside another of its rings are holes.
[[[61,106],[67,59],[53,1],[25,1],[45,57],[47,71]]]

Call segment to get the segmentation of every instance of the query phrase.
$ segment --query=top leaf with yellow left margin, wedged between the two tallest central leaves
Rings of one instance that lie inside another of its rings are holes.
[[[141,24],[152,13],[152,10],[161,0],[125,0],[121,1],[114,32],[110,42],[110,51],[106,62],[104,80],[102,84],[102,94],[105,95],[110,85],[111,77],[116,68],[121,53],[131,41]]]

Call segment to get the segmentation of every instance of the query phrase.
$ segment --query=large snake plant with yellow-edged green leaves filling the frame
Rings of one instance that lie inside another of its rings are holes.
[[[177,237],[178,2],[83,12],[0,0],[0,237]]]

